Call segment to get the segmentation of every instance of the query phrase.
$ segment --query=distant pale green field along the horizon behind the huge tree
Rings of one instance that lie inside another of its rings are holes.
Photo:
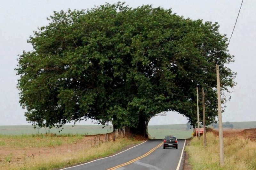
[[[224,124],[225,122],[223,122]],[[233,124],[233,129],[250,129],[256,128],[256,122],[229,122]],[[64,125],[63,130],[36,128],[32,125],[23,126],[0,126],[0,135],[29,135],[29,134],[45,134],[53,133],[56,135],[73,134],[73,135],[96,135],[110,133],[113,131],[112,126],[102,128],[102,125]],[[60,132],[59,132],[60,131]],[[191,137],[193,129],[187,129],[186,124],[174,125],[149,125],[148,134],[151,139],[163,139],[166,135],[174,135],[179,139],[187,139]]]

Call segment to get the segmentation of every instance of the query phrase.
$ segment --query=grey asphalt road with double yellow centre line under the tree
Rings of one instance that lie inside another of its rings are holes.
[[[148,140],[116,155],[65,170],[176,170],[184,142],[183,139],[178,141],[178,149],[163,149],[163,140]],[[183,162],[182,158],[179,170],[182,170]]]

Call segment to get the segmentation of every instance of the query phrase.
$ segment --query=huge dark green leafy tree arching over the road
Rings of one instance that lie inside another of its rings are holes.
[[[217,23],[171,9],[122,3],[54,12],[34,32],[33,50],[19,57],[20,104],[27,121],[61,127],[87,118],[147,135],[148,121],[177,111],[193,124],[196,87],[204,87],[208,122],[217,116],[216,71],[222,101],[235,85],[227,38]]]

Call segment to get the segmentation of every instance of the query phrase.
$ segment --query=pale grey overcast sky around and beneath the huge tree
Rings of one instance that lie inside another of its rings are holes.
[[[18,54],[23,50],[30,51],[27,43],[30,35],[37,27],[46,26],[47,17],[53,11],[70,9],[91,9],[108,2],[118,1],[87,1],[87,0],[1,0],[0,5],[0,126],[29,125],[24,116],[25,110],[19,104],[16,71]],[[121,1],[123,2],[123,1]],[[203,19],[203,21],[218,22],[220,33],[232,33],[242,0],[131,0],[125,1],[130,7],[142,4],[152,4],[153,7],[172,8],[173,13],[185,18]],[[229,44],[229,53],[235,55],[235,63],[229,65],[237,72],[237,85],[231,94],[231,101],[226,103],[223,122],[256,121],[256,1],[245,0],[236,23],[235,31]],[[216,96],[217,97],[217,96]],[[196,107],[196,106],[195,106]],[[90,124],[91,121],[80,124]],[[156,116],[149,125],[180,124],[188,120],[175,112],[167,116]]]

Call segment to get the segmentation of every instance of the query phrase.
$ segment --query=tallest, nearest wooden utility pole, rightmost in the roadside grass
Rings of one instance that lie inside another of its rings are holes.
[[[224,144],[222,130],[221,100],[220,100],[220,73],[219,65],[216,65],[217,92],[218,92],[218,116],[219,116],[219,139],[220,139],[220,166],[224,166]]]

